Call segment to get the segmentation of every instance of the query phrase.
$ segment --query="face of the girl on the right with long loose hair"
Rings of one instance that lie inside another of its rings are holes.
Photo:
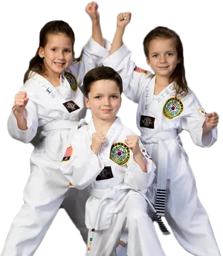
[[[180,60],[175,48],[175,39],[152,39],[148,45],[149,56],[146,63],[161,77],[170,77]]]

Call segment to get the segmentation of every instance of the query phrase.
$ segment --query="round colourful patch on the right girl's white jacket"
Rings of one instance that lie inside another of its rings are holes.
[[[178,100],[175,97],[170,97],[164,105],[163,112],[166,118],[172,119],[178,115],[181,115],[183,109],[184,106],[181,100]]]

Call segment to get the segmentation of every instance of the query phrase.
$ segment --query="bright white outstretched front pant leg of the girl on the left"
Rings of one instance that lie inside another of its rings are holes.
[[[45,153],[32,154],[30,167],[23,193],[25,204],[13,220],[1,256],[32,256],[68,191],[68,182],[56,173],[56,165]],[[54,178],[60,179],[60,184]]]

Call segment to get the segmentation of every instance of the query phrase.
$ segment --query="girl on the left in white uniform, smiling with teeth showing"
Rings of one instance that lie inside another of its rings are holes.
[[[10,136],[29,143],[38,127],[42,132],[41,142],[30,157],[31,173],[23,193],[25,204],[13,220],[2,256],[34,254],[71,185],[54,160],[62,158],[70,129],[76,131],[85,124],[86,108],[80,90],[85,73],[99,65],[108,53],[97,3],[90,2],[85,11],[91,18],[92,36],[83,46],[82,60],[71,63],[75,41],[71,27],[61,20],[48,22],[39,33],[39,45],[30,60],[24,86],[15,96],[7,121]],[[72,190],[72,202],[77,205],[67,205],[66,210],[77,217],[74,224],[86,243],[84,209],[88,194],[83,191],[79,199]]]

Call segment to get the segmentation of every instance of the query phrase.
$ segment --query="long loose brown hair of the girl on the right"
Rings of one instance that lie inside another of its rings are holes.
[[[178,33],[175,33],[175,31],[172,31],[172,29],[167,28],[164,25],[155,27],[146,33],[146,36],[143,38],[143,49],[146,57],[149,57],[149,42],[158,38],[175,39],[175,48],[178,52],[178,59],[181,61],[176,65],[175,70],[170,76],[169,82],[175,82],[175,97],[177,97],[177,95],[186,96],[190,85],[187,84],[185,77],[184,42],[181,40],[181,37],[178,35]],[[152,71],[152,68],[150,68],[150,70]],[[152,77],[154,76],[155,72],[152,71]]]

